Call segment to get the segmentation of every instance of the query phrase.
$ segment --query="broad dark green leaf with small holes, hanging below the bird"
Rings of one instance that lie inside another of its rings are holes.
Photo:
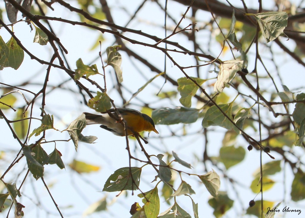
[[[129,167],[116,170],[107,179],[103,191],[117,192],[122,190],[137,190],[140,185],[141,171],[142,169],[138,167],[131,167],[131,172],[129,172]]]

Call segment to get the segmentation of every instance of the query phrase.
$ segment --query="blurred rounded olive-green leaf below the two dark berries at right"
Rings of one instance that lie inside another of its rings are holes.
[[[235,148],[232,146],[221,147],[219,151],[220,161],[224,164],[226,169],[240,163],[246,155],[246,151],[243,147]]]

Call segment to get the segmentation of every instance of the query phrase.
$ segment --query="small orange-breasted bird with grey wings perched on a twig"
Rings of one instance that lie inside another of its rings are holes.
[[[117,108],[117,110],[126,121],[128,136],[134,135],[130,129],[137,133],[142,131],[153,131],[159,134],[155,128],[155,123],[148,115],[128,108]],[[108,130],[117,136],[125,136],[124,125],[120,122],[120,118],[115,110],[109,109],[108,111],[111,112],[113,115],[112,117],[106,112],[104,112],[103,115],[84,112],[86,124],[102,124],[100,125],[101,128]]]

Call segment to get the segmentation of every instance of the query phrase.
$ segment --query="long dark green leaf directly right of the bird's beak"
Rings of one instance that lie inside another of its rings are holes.
[[[156,124],[172,125],[177,123],[194,123],[198,119],[198,110],[193,108],[160,108],[152,112]]]

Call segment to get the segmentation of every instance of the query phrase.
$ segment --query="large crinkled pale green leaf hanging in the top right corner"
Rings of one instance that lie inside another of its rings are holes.
[[[288,15],[283,11],[268,11],[246,15],[255,17],[267,43],[284,34],[284,29],[288,23]]]

